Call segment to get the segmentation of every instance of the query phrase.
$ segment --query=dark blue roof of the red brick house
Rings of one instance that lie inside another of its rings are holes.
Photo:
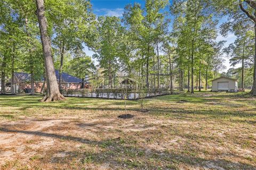
[[[18,78],[19,81],[30,81],[30,74],[29,73],[22,73],[22,72],[15,72],[15,76]],[[57,81],[59,81],[59,71],[55,70]],[[41,80],[44,81],[44,78],[42,77]],[[69,75],[68,73],[62,72],[62,82],[66,83],[81,83],[82,79],[79,79],[77,77],[74,77],[72,75]],[[85,82],[88,83],[88,82]]]

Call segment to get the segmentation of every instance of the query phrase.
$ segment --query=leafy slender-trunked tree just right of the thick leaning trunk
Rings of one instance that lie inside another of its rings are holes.
[[[93,32],[91,28],[95,15],[92,13],[91,3],[86,0],[50,1],[46,6],[49,6],[46,12],[52,25],[53,44],[59,49],[61,56],[59,63],[59,82],[61,82],[65,51],[82,49],[83,43],[90,44],[89,34]]]

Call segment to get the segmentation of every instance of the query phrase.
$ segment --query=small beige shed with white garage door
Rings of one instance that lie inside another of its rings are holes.
[[[237,92],[237,81],[227,77],[220,77],[212,80],[212,91]]]

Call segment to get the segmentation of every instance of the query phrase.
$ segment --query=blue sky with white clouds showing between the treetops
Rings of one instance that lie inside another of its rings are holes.
[[[100,16],[117,16],[122,17],[124,12],[124,7],[127,4],[133,4],[133,3],[140,3],[141,6],[145,5],[144,0],[91,0],[92,9],[95,15]],[[170,0],[170,4],[172,3],[172,0]],[[168,9],[166,9],[168,10]],[[225,19],[221,20],[221,22],[225,22]],[[220,24],[221,24],[220,22]],[[219,25],[220,25],[219,24]],[[171,28],[171,27],[170,27]],[[236,36],[232,33],[229,33],[227,37],[222,37],[220,33],[218,34],[217,41],[226,40],[225,47],[227,47],[229,44],[233,43],[236,39]],[[84,51],[86,55],[92,56],[94,53],[89,50],[86,46],[84,46]],[[230,68],[229,59],[227,56],[223,57],[225,59],[225,65],[227,67],[227,71]],[[97,61],[93,59],[95,64],[98,64]]]

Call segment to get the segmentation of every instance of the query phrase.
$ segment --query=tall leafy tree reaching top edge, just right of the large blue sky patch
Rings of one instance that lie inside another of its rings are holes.
[[[146,1],[145,8],[135,3],[126,5],[124,23],[133,33],[134,40],[138,41],[142,61],[146,61],[146,86],[149,88],[149,64],[154,54],[154,43],[159,32],[164,29],[165,13],[161,11],[169,1]]]

